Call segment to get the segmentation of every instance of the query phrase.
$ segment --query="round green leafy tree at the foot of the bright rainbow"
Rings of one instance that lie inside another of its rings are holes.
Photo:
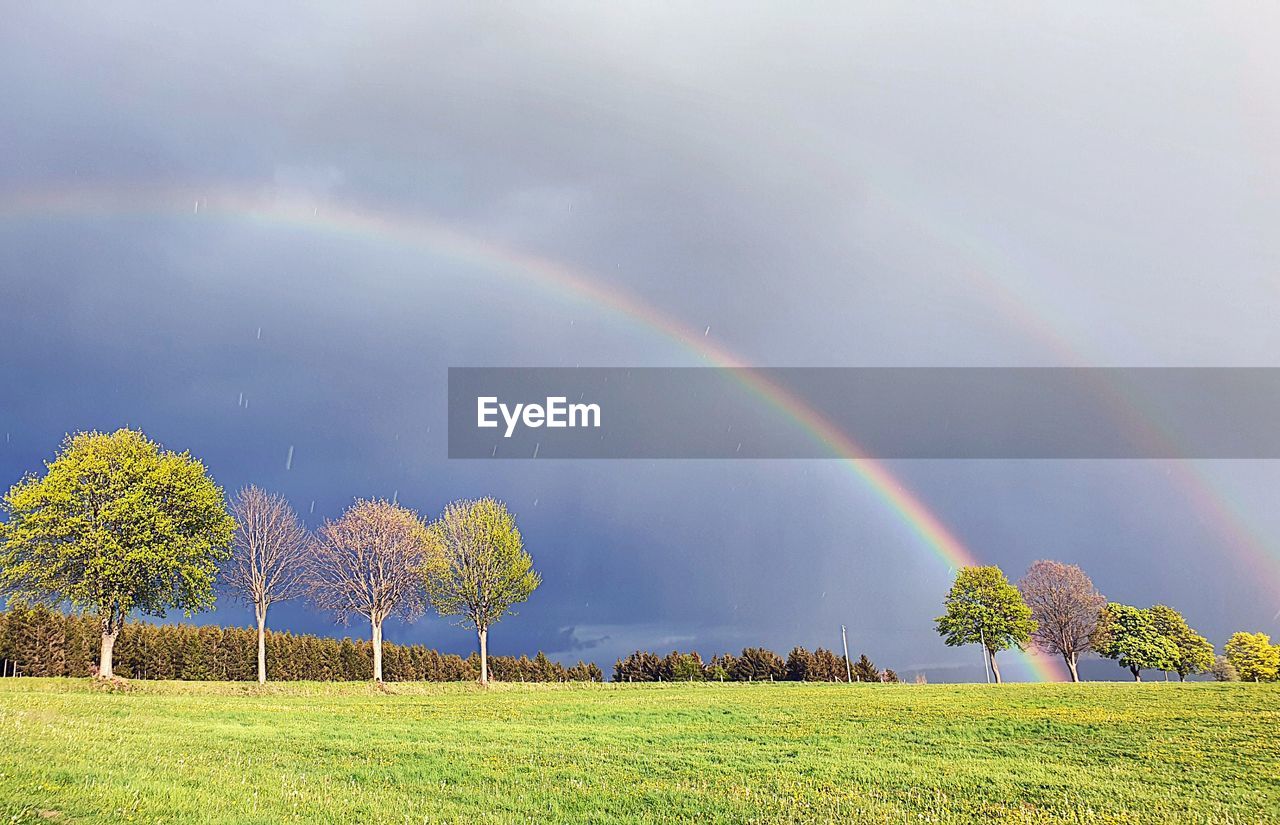
[[[934,619],[938,634],[951,647],[983,645],[1000,684],[996,654],[1010,647],[1021,650],[1037,629],[1021,593],[998,567],[964,567],[947,593],[946,608],[946,614]]]

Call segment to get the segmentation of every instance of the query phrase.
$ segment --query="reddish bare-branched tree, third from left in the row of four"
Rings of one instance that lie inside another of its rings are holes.
[[[352,615],[372,628],[375,682],[383,680],[383,623],[422,610],[420,570],[428,531],[417,513],[383,500],[357,500],[325,522],[307,554],[312,601],[346,624]]]

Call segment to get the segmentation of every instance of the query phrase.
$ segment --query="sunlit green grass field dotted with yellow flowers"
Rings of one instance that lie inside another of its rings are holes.
[[[0,680],[12,821],[1280,821],[1280,686]]]

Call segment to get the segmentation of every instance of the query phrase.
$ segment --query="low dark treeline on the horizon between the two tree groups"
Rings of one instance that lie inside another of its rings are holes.
[[[737,656],[721,654],[703,661],[698,651],[666,656],[637,650],[613,664],[614,682],[897,682],[865,654],[847,663],[824,647],[794,647],[786,659],[765,647],[744,647]]]

